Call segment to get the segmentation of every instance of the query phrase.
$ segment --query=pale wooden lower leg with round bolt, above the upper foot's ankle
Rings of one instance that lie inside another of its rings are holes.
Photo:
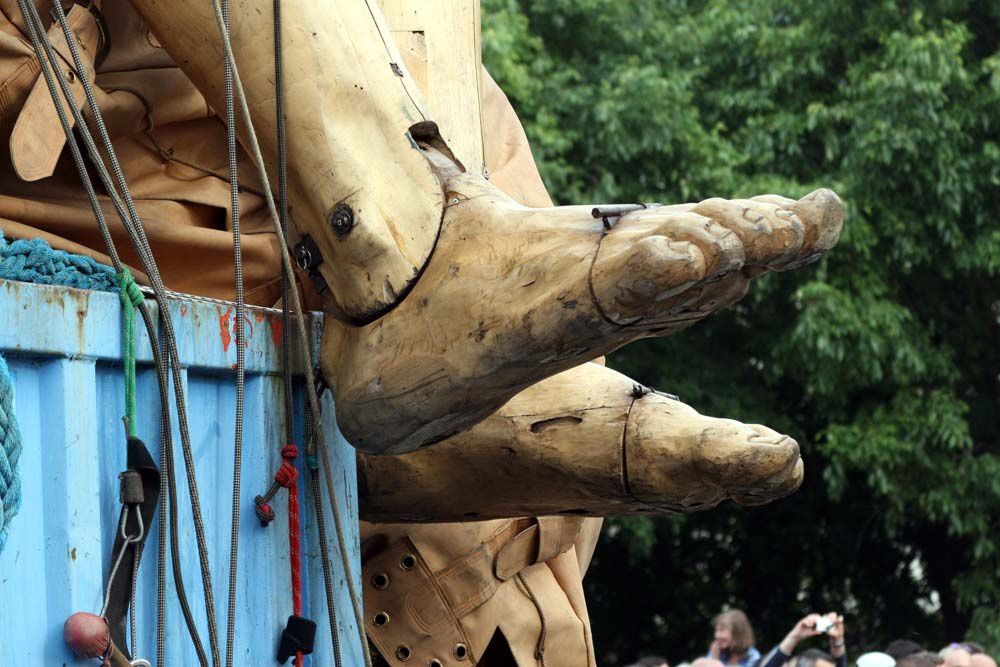
[[[132,4],[209,104],[223,109],[212,0]],[[273,6],[231,5],[233,53],[276,190]],[[376,2],[286,2],[282,12],[292,222],[326,260],[328,310],[370,319],[405,293],[437,238],[442,185],[414,138],[433,135],[434,125]],[[350,225],[331,224],[348,212]]]

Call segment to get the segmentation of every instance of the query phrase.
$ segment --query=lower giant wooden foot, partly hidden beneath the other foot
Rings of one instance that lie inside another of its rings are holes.
[[[698,414],[597,364],[526,389],[428,449],[358,458],[368,521],[692,512],[757,505],[802,482],[799,446]]]

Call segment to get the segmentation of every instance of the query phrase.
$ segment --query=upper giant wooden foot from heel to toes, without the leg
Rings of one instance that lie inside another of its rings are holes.
[[[440,160],[438,161],[440,162]],[[323,368],[347,439],[401,453],[467,429],[534,382],[743,296],[837,241],[837,196],[710,199],[626,215],[528,209],[477,176],[448,203],[412,292],[366,326],[327,318]]]

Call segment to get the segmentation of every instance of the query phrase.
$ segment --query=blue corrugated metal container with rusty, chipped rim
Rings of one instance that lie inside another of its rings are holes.
[[[170,307],[184,366],[181,382],[188,402],[219,639],[224,643],[235,419],[233,314],[225,305],[204,302],[175,302]],[[14,376],[15,412],[24,440],[23,504],[0,554],[0,664],[89,664],[75,660],[66,650],[62,628],[75,611],[100,610],[104,576],[111,561],[119,512],[118,472],[125,465],[120,323],[115,294],[0,280],[0,352]],[[312,323],[314,349],[318,347],[319,324]],[[141,322],[137,330],[138,434],[158,460],[158,388]],[[255,310],[247,330],[235,663],[268,665],[275,663],[277,639],[291,613],[286,496],[282,491],[275,497],[272,506],[277,519],[268,528],[257,522],[251,499],[263,493],[281,463],[280,318]],[[300,411],[302,398],[296,396]],[[348,530],[352,572],[357,577],[361,565],[354,451],[336,430],[329,394],[324,404],[337,502]],[[296,427],[301,431],[301,423]],[[184,584],[207,650],[205,602],[176,422],[174,436]],[[309,474],[301,463],[299,479],[303,604],[305,615],[319,626],[316,653],[306,664],[332,665]],[[344,664],[360,665],[357,626],[332,517],[326,509]],[[150,659],[155,657],[157,549],[154,524],[137,593],[137,655]],[[168,582],[169,663],[197,664],[169,573]],[[360,590],[360,582],[357,584]]]

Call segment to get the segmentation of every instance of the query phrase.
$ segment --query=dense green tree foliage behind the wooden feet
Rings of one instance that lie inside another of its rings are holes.
[[[826,186],[823,262],[612,364],[796,437],[764,508],[608,523],[598,653],[673,661],[743,606],[762,644],[842,608],[853,650],[1000,649],[1000,5],[484,0],[484,58],[561,203]],[[767,648],[762,647],[762,648]]]

